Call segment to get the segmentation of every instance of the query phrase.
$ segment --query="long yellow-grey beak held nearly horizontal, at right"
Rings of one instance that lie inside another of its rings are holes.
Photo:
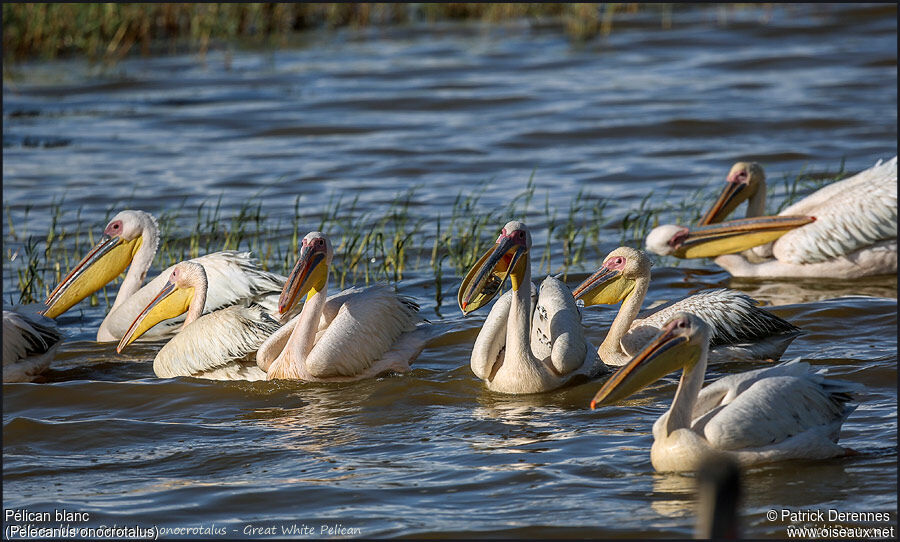
[[[714,258],[770,243],[816,219],[812,216],[761,216],[729,220],[687,230],[669,241],[676,258]]]

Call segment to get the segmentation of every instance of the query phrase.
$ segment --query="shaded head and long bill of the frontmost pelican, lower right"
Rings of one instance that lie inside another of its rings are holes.
[[[681,368],[693,367],[709,346],[710,329],[689,312],[676,313],[656,337],[607,380],[594,395],[591,408],[610,405]]]

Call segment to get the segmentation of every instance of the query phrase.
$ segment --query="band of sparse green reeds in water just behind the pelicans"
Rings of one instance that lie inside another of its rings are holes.
[[[536,195],[534,175],[532,172],[522,190],[501,206],[483,201],[491,180],[475,190],[460,191],[449,215],[420,205],[418,187],[398,194],[386,209],[377,212],[362,211],[358,196],[345,201],[332,193],[325,205],[316,206],[320,215],[303,216],[305,207],[298,196],[287,226],[270,219],[262,204],[254,203],[257,198],[253,196],[240,207],[228,210],[222,206],[222,196],[214,203],[203,200],[193,209],[182,200],[177,207],[157,214],[162,235],[154,269],[219,250],[250,250],[263,269],[286,275],[296,261],[299,239],[309,231],[319,230],[334,240],[335,258],[329,272],[339,288],[376,281],[396,283],[409,272],[419,276],[430,273],[430,288],[440,307],[446,291],[453,289],[448,288],[447,277],[453,277],[451,282],[462,277],[496,239],[496,225],[511,217],[534,224],[535,273],[562,273],[565,278],[572,270],[589,271],[595,267],[611,248],[601,246],[602,239],[612,243],[615,232],[618,245],[639,247],[647,233],[659,224],[696,222],[714,197],[711,186],[718,182],[711,180],[680,198],[671,191],[650,192],[628,209],[616,208],[615,201],[592,196],[589,190],[579,191],[565,205],[554,205],[547,192],[542,194],[544,201],[538,210],[532,205]],[[842,162],[835,174],[786,176],[781,190],[777,185],[770,186],[776,192],[770,196],[779,202],[780,210],[818,186],[845,175]],[[67,230],[61,225],[65,207],[64,199],[54,200],[47,232],[35,235],[27,229],[31,208],[22,209],[23,223],[17,228],[7,205],[4,276],[8,277],[8,289],[13,286],[12,277],[16,278],[18,292],[18,299],[8,295],[9,301],[42,301],[94,245],[94,231],[99,231],[102,224],[85,224],[81,210],[75,209],[75,228]],[[103,223],[117,210],[129,207],[133,206],[128,202],[110,205]],[[617,218],[607,218],[611,208],[617,211]],[[185,229],[179,224],[189,226]],[[665,264],[677,266],[679,260],[668,258]],[[100,291],[107,306],[112,303],[107,288],[114,292],[119,282],[116,279]],[[95,294],[91,303],[98,302],[101,301]]]

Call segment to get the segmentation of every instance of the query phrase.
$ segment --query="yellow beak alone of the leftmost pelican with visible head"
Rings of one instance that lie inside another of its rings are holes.
[[[103,235],[88,255],[50,292],[44,301],[47,305],[44,316],[56,318],[122,274],[141,248],[141,243],[143,236],[126,241],[121,237]]]

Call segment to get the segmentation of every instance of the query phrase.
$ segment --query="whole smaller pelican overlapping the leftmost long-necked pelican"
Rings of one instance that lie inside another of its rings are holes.
[[[203,314],[206,293],[202,265],[192,261],[176,264],[165,286],[134,319],[116,351],[121,352],[157,323],[184,314],[181,330],[153,360],[156,376],[265,380],[265,371],[256,365],[256,351],[278,330],[279,322],[254,303]]]

